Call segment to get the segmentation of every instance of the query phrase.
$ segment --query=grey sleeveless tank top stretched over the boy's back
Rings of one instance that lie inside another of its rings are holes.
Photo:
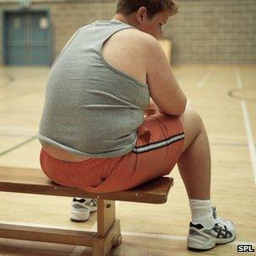
[[[102,56],[111,35],[132,28],[120,21],[98,20],[77,31],[51,67],[38,136],[42,145],[90,157],[119,157],[132,151],[149,89]]]

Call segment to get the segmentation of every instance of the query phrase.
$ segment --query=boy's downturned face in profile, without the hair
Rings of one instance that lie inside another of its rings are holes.
[[[152,35],[157,40],[163,36],[163,25],[168,22],[168,18],[170,17],[169,11],[164,11],[161,13],[156,13],[152,19],[147,18],[144,16],[144,19],[141,20],[141,24],[139,25],[138,29],[141,31]]]

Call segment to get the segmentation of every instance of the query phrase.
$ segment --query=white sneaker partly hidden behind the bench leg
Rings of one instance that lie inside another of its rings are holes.
[[[97,211],[97,200],[74,197],[70,219],[72,221],[87,221],[93,211]]]

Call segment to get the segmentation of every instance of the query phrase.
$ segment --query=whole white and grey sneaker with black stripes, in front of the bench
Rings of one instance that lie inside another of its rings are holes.
[[[189,250],[210,250],[218,243],[230,243],[236,238],[236,227],[232,221],[217,217],[215,207],[213,207],[213,217],[216,219],[216,224],[211,229],[207,229],[201,224],[189,223],[189,235],[187,238]]]

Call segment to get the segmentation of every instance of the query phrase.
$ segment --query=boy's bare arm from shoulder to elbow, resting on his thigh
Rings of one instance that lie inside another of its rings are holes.
[[[182,115],[186,108],[186,96],[174,77],[173,70],[159,42],[148,36],[145,45],[147,83],[153,102],[168,115]],[[158,109],[158,110],[159,110]]]

